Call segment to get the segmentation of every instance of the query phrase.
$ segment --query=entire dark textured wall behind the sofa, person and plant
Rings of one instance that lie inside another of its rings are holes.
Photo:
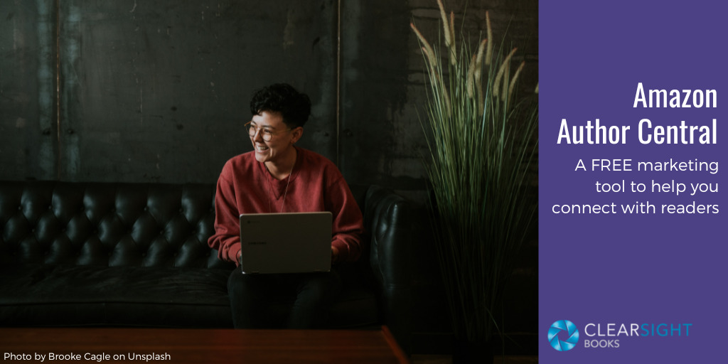
[[[533,95],[537,0],[444,2],[473,45],[490,13]],[[313,102],[301,146],[347,181],[422,203],[426,84],[411,21],[437,42],[435,0],[0,1],[0,179],[215,183],[251,150],[254,90],[290,82]],[[413,252],[416,332],[448,330],[432,314],[446,309],[432,249]],[[534,242],[509,292],[510,332],[535,331],[536,257]]]

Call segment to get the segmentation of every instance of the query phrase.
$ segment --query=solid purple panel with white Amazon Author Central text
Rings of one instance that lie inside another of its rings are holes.
[[[721,100],[727,7],[721,1],[539,4],[541,363],[711,363],[724,357],[728,201],[719,189],[727,187],[719,166],[728,154]],[[682,104],[683,90],[694,90],[687,103],[695,105],[656,107],[653,100],[653,107],[635,107],[640,82],[646,101],[649,90],[667,90],[668,101],[670,90],[678,90]],[[715,107],[705,107],[705,98],[695,107],[701,99],[693,95],[706,96],[706,90],[716,90]],[[572,143],[566,137],[559,143],[562,119],[569,132],[584,127],[584,143],[573,143],[573,135]],[[588,143],[587,123],[595,126],[597,119],[607,136],[614,128],[617,143],[596,143],[596,129]],[[623,127],[629,129],[622,138]],[[677,143],[655,143],[654,132],[670,127],[677,127]],[[693,143],[691,127],[697,129]],[[704,131],[710,143],[700,143]],[[603,170],[601,162],[593,168],[593,159],[609,159],[610,167],[614,159],[631,161]],[[666,170],[639,170],[640,162]],[[621,189],[622,181],[625,191],[597,191],[597,182]],[[633,192],[632,183],[644,183],[644,191]],[[675,190],[680,183],[686,191]],[[706,183],[708,190],[692,194],[692,183]],[[609,213],[600,207],[600,213],[557,214],[555,205],[558,212],[608,205]],[[622,210],[635,205],[643,210]],[[561,329],[561,320],[574,324],[578,340]]]

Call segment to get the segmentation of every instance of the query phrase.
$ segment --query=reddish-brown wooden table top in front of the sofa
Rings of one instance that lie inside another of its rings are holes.
[[[0,328],[0,363],[408,363],[386,327]],[[116,357],[116,360],[114,358]]]

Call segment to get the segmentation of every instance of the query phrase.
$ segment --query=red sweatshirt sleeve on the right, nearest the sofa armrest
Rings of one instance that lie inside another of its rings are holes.
[[[339,250],[339,261],[356,261],[362,253],[364,218],[344,177],[339,175],[328,188],[327,210],[333,215],[331,245]]]

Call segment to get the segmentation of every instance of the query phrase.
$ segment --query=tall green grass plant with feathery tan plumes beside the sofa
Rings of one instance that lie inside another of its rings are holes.
[[[538,100],[515,95],[525,63],[512,72],[516,49],[494,51],[502,41],[494,41],[487,13],[487,38],[471,47],[466,36],[456,36],[454,13],[448,17],[438,5],[445,44],[432,47],[411,23],[429,85],[421,122],[435,244],[462,344],[454,359],[480,351],[488,360],[494,336],[502,335],[496,312],[505,285],[536,217],[528,184],[537,167]]]

